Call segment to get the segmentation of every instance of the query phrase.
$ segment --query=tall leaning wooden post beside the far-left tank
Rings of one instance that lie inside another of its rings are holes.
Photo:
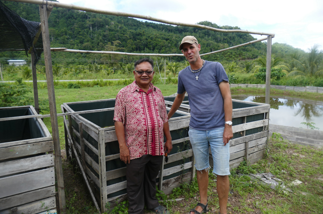
[[[49,40],[46,5],[39,5],[39,13],[40,13],[40,22],[42,26],[48,100],[49,100],[49,107],[50,107],[50,114],[51,114],[52,135],[53,135],[54,151],[55,151],[55,167],[56,167],[58,198],[59,198],[59,208],[57,210],[60,214],[66,214],[61,145],[60,145],[60,136],[58,131],[57,110],[56,110],[53,68],[52,68],[52,55],[51,55],[51,47],[50,47],[50,40]]]

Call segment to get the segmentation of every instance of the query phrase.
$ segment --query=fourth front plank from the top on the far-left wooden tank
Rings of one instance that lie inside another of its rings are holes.
[[[55,186],[45,187],[43,189],[38,189],[15,196],[2,198],[0,199],[0,210],[17,207],[19,205],[38,201],[41,199],[46,199],[52,196],[55,196]]]

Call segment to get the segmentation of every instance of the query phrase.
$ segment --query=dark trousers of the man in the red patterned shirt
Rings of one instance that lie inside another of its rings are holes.
[[[127,164],[127,194],[129,214],[142,214],[147,209],[159,206],[156,199],[156,177],[162,162],[162,155],[144,155]]]

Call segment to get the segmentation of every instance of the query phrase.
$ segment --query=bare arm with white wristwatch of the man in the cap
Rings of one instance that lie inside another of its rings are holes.
[[[224,118],[226,121],[232,121],[232,99],[230,92],[230,85],[228,82],[221,82],[219,88],[223,97]],[[223,132],[223,143],[226,145],[233,137],[232,125],[225,124]]]

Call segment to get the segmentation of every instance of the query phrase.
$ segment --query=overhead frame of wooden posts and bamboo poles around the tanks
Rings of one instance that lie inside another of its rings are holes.
[[[200,24],[188,24],[188,23],[181,23],[181,22],[174,22],[174,21],[167,21],[164,19],[154,18],[151,16],[144,16],[139,14],[132,14],[132,13],[124,13],[124,12],[114,12],[114,11],[106,11],[106,10],[99,10],[93,9],[83,6],[77,6],[73,4],[66,4],[61,3],[58,1],[44,1],[44,0],[9,0],[9,1],[16,1],[16,2],[25,2],[25,3],[33,3],[39,4],[40,10],[40,20],[41,20],[41,32],[43,38],[43,48],[44,48],[44,58],[45,58],[45,67],[46,67],[46,79],[47,79],[47,89],[48,89],[48,97],[49,97],[49,105],[50,105],[50,115],[51,115],[51,124],[52,124],[52,133],[53,133],[53,141],[54,141],[54,149],[56,153],[55,158],[55,166],[56,166],[56,174],[57,174],[57,183],[58,183],[58,204],[59,209],[58,211],[61,213],[66,213],[66,202],[65,202],[65,193],[64,193],[64,180],[63,180],[63,169],[62,169],[62,158],[61,158],[61,150],[60,150],[60,140],[59,140],[59,132],[58,132],[58,121],[57,121],[57,109],[56,109],[56,100],[55,100],[55,91],[54,91],[54,81],[53,81],[53,70],[52,70],[52,59],[51,59],[51,48],[50,48],[50,39],[49,39],[49,28],[48,28],[48,11],[51,10],[52,6],[68,8],[68,9],[77,9],[87,12],[94,12],[94,13],[101,13],[101,14],[109,14],[109,15],[116,15],[116,16],[127,16],[127,17],[135,17],[141,18],[146,20],[157,21],[166,24],[172,25],[180,25],[180,26],[189,26],[189,27],[197,27],[217,32],[241,32],[241,33],[249,33],[249,34],[259,34],[259,35],[267,35],[267,38],[258,39],[255,41],[251,41],[242,45],[238,45],[235,47],[231,47],[228,49],[233,49],[236,47],[240,47],[243,45],[251,44],[253,42],[258,42],[267,39],[267,68],[266,68],[266,103],[269,104],[269,96],[270,96],[270,62],[271,62],[271,38],[275,36],[273,33],[264,33],[264,32],[256,32],[256,31],[247,31],[247,30],[225,30],[225,29],[218,29],[214,27],[209,27]],[[36,41],[34,41],[36,42]],[[227,49],[224,49],[227,50]],[[220,50],[220,51],[224,51]],[[216,51],[216,52],[220,52]],[[216,53],[213,52],[213,53]],[[110,53],[110,54],[120,54],[118,52]],[[207,53],[211,54],[211,53]],[[140,54],[136,54],[140,55]],[[154,54],[146,54],[153,56]],[[162,55],[164,56],[164,55]],[[33,69],[33,77],[35,78],[35,69]],[[34,91],[37,91],[37,84],[34,83]],[[37,93],[34,94],[36,96]],[[38,97],[35,97],[35,104],[38,103]],[[38,108],[38,106],[35,106]]]

